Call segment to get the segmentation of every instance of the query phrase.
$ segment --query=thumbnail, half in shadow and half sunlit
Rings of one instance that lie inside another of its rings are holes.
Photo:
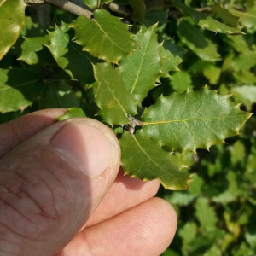
[[[96,122],[69,122],[50,141],[62,159],[79,168],[88,177],[99,177],[117,159],[117,146],[107,127],[98,129]],[[102,127],[101,127],[102,128]]]

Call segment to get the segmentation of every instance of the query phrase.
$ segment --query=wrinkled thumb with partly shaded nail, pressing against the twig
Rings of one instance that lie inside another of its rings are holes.
[[[0,160],[0,255],[52,256],[119,171],[119,143],[93,119],[49,126]]]

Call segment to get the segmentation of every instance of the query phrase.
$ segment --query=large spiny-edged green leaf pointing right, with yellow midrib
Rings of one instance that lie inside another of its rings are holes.
[[[209,149],[239,134],[250,113],[240,110],[228,96],[207,88],[160,96],[143,113],[143,131],[163,145],[181,151]]]

